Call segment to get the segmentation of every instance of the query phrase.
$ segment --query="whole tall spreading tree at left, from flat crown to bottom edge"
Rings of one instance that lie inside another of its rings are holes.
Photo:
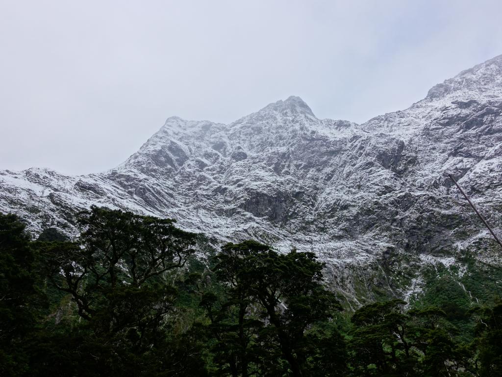
[[[79,224],[78,242],[38,246],[52,283],[71,295],[84,319],[74,332],[83,339],[75,353],[94,358],[84,370],[194,373],[201,365],[194,349],[200,347],[193,336],[173,335],[177,291],[171,277],[194,253],[196,235],[176,228],[173,220],[96,207],[81,213]],[[75,339],[72,334],[66,341]],[[65,370],[73,367],[65,362]],[[203,368],[197,373],[203,375]]]

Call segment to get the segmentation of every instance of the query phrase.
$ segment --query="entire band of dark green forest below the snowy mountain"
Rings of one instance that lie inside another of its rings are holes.
[[[452,300],[446,277],[409,309],[349,313],[313,253],[215,251],[173,220],[95,207],[78,222],[75,241],[32,241],[0,214],[0,375],[502,375],[502,303]]]

